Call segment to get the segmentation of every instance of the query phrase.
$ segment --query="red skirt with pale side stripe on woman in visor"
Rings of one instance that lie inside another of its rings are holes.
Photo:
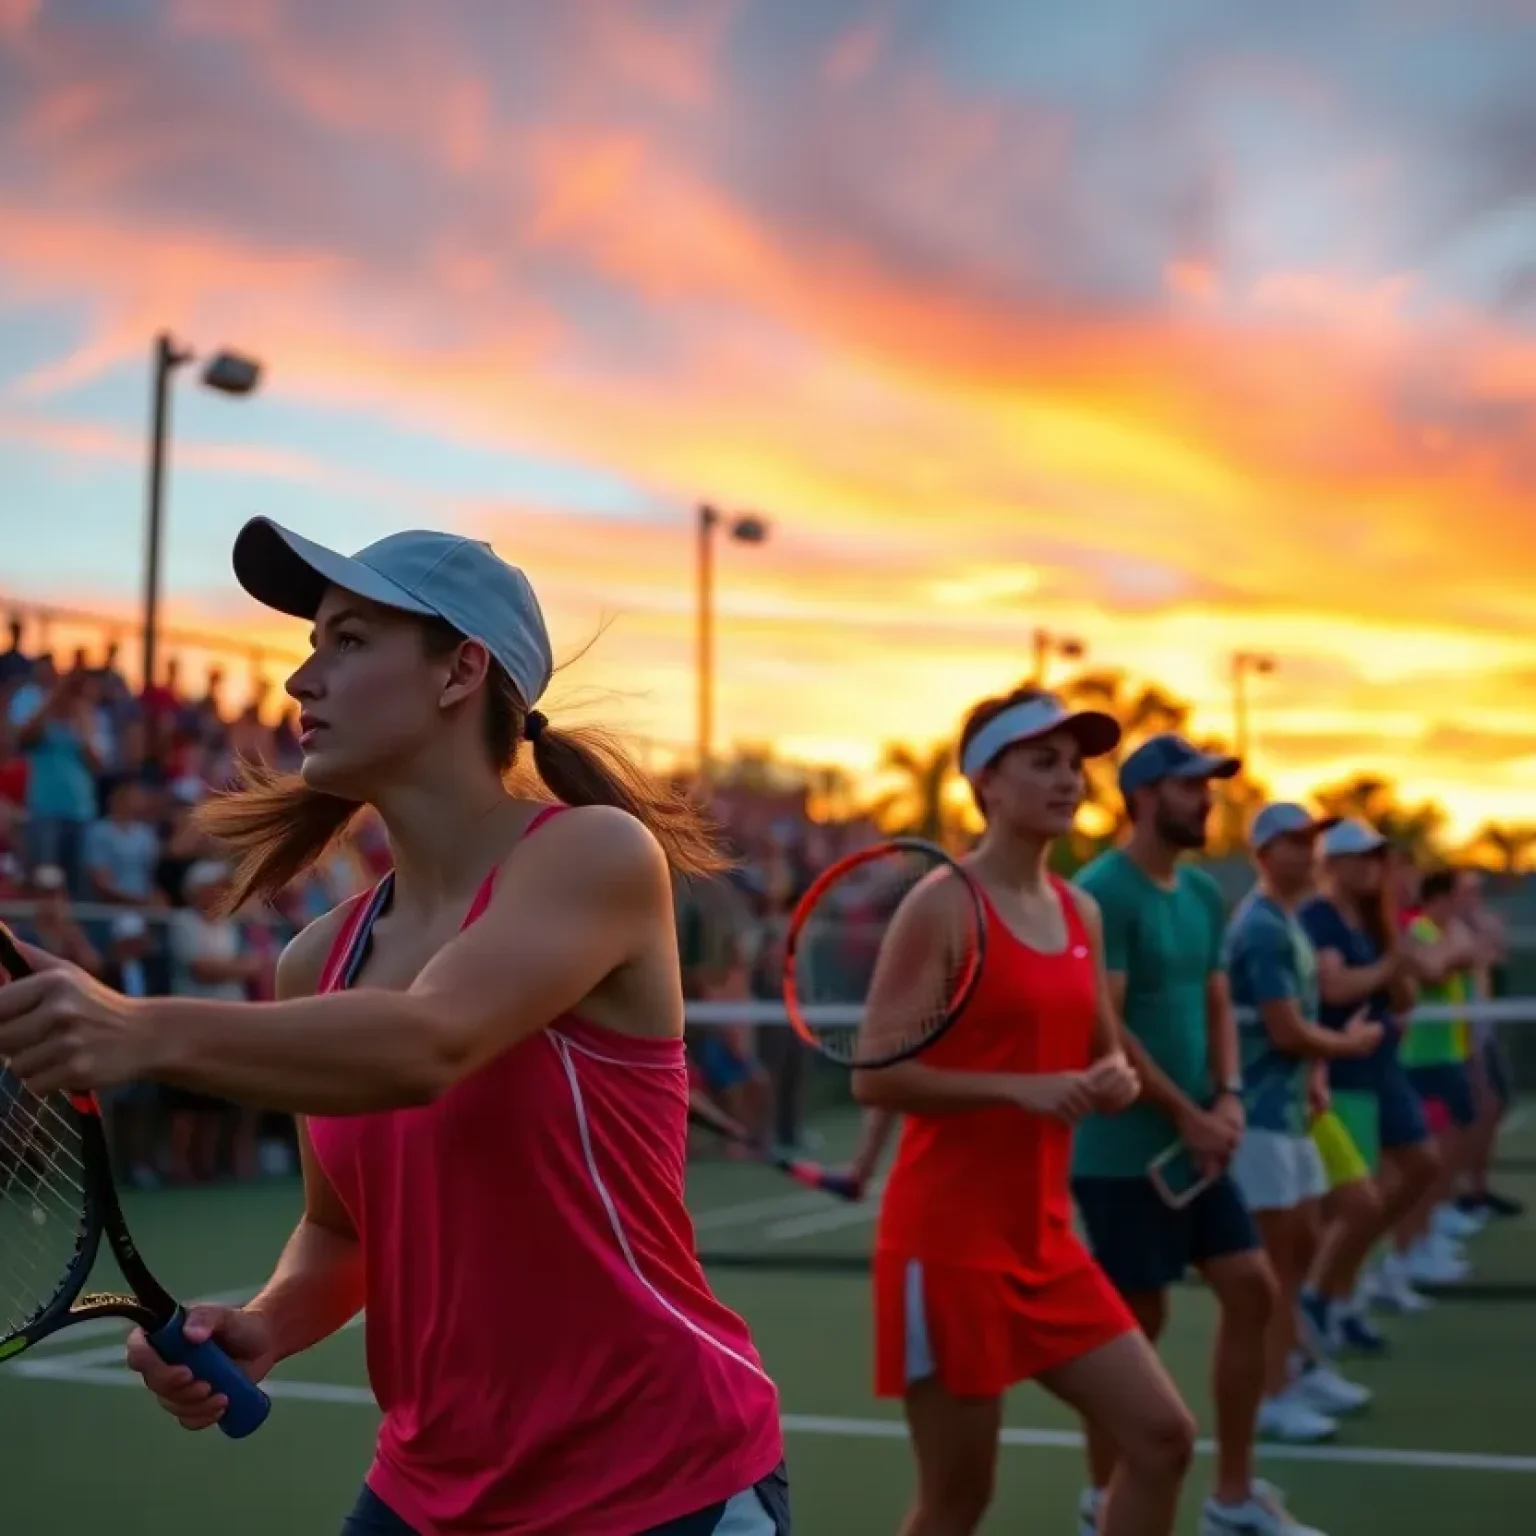
[[[1083,1256],[1081,1266],[1040,1283],[877,1252],[876,1396],[902,1398],[937,1378],[955,1398],[997,1398],[1134,1333],[1130,1310]]]

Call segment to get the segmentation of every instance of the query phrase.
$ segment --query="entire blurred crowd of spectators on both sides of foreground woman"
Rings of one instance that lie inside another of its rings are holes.
[[[0,651],[0,917],[131,995],[270,997],[287,938],[378,879],[389,859],[382,829],[364,819],[276,909],[218,915],[227,869],[192,811],[241,757],[296,768],[296,716],[266,688],[233,710],[220,671],[198,691],[174,659],[135,693],[115,645],[61,659],[28,650],[12,622]],[[794,900],[816,869],[876,833],[862,820],[811,820],[799,790],[722,786],[711,809],[734,868],[680,894],[688,995],[774,998]],[[802,1141],[802,1052],[788,1031],[753,1034],[699,1031],[691,1044],[722,1104]],[[292,1166],[290,1132],[275,1118],[147,1084],[109,1095],[106,1109],[123,1175],[141,1187]]]

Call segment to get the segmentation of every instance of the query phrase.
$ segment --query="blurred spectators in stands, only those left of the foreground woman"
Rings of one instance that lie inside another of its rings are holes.
[[[20,624],[0,653],[0,917],[129,995],[270,997],[287,937],[382,869],[382,836],[364,826],[275,911],[220,915],[227,869],[192,809],[238,757],[300,760],[296,708],[258,691],[230,710],[223,682],[210,671],[194,694],[172,660],[135,694],[115,648],[61,662],[29,653]],[[280,1121],[195,1094],[135,1084],[106,1107],[141,1187],[292,1166]]]

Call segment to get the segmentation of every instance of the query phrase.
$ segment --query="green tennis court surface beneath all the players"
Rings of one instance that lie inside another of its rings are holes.
[[[834,1149],[846,1121],[825,1127]],[[1502,1184],[1536,1204],[1536,1121],[1507,1138]],[[897,1528],[909,1490],[903,1430],[869,1396],[866,1281],[856,1272],[869,1207],[794,1190],[740,1164],[693,1175],[699,1244],[723,1298],[753,1322],[786,1413],[797,1530],[863,1536]],[[267,1273],[298,1207],[298,1186],[134,1197],[129,1220],[152,1263],[183,1295],[246,1295]],[[1275,1448],[1264,1471],[1330,1536],[1367,1528],[1444,1536],[1536,1530],[1536,1223],[1475,1240],[1490,1293],[1442,1299],[1392,1326],[1395,1353],[1350,1372],[1376,1401],[1327,1448]],[[745,1267],[751,1260],[754,1267]],[[1505,1283],[1499,1284],[1499,1279]],[[1198,1287],[1177,1301],[1169,1361],[1209,1422],[1204,1361],[1212,1329]],[[362,1335],[349,1329],[272,1382],[272,1419],[253,1439],[184,1435],[120,1367],[117,1335],[75,1330],[0,1367],[0,1467],[6,1536],[326,1536],[367,1465],[376,1415]],[[1075,1530],[1081,1479],[1075,1425],[1034,1390],[1009,1412],[988,1530]],[[1183,1531],[1193,1531],[1209,1458],[1197,1462]]]

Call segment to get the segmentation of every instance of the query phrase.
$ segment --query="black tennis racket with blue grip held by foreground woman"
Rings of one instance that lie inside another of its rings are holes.
[[[0,969],[12,980],[32,972],[3,923]],[[131,1295],[86,1292],[103,1236]],[[186,1312],[140,1258],[95,1095],[38,1098],[0,1063],[0,1361],[97,1318],[137,1322],[161,1358],[227,1398],[218,1427],[230,1439],[266,1421],[267,1395],[212,1339],[187,1341]]]

